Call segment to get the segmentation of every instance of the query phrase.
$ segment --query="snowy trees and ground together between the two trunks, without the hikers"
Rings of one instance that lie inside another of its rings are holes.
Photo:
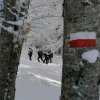
[[[31,32],[24,44],[17,78],[16,100],[59,100],[63,19],[62,0],[32,0],[29,9]],[[33,49],[32,62],[27,61],[28,47]],[[37,62],[36,48],[60,54],[52,64]],[[19,81],[19,79],[22,79]],[[21,89],[22,88],[22,89]]]

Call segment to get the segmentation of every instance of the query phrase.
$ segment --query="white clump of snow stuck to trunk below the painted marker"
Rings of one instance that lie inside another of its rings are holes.
[[[99,56],[100,56],[99,51],[96,49],[89,50],[82,54],[82,58],[84,60],[87,60],[89,63],[95,63],[97,60],[97,57]]]

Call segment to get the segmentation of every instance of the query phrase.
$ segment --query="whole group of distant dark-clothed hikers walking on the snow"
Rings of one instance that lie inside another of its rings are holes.
[[[29,59],[32,60],[32,54],[33,54],[33,50],[32,48],[29,48],[29,51],[28,51],[28,56],[29,56]],[[51,52],[51,50],[49,50],[48,52],[43,52],[42,50],[39,50],[37,51],[37,54],[38,54],[38,62],[40,62],[40,60],[43,62],[43,63],[52,63],[52,58],[53,58],[53,53]]]

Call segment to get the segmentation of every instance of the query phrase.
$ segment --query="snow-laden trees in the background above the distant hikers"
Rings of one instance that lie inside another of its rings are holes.
[[[32,0],[29,18],[32,28],[27,39],[43,50],[58,51],[63,45],[62,0]]]

